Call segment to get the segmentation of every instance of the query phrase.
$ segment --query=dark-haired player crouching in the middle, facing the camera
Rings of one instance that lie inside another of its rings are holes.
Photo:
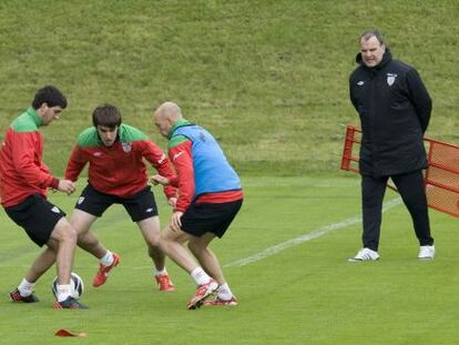
[[[76,181],[89,164],[88,185],[79,197],[70,220],[79,234],[78,244],[100,261],[93,286],[105,283],[108,273],[121,257],[106,250],[98,240],[91,225],[112,204],[122,204],[146,242],[149,255],[154,262],[155,280],[160,291],[175,287],[165,268],[165,256],[159,247],[160,219],[144,160],[159,173],[174,176],[173,166],[161,149],[137,129],[121,123],[116,106],[98,106],[93,114],[93,126],[84,130],[70,156],[65,179]],[[167,199],[175,197],[173,187],[165,187]]]

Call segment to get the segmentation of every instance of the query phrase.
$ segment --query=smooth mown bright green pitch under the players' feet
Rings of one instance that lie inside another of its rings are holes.
[[[61,344],[65,341],[53,336],[58,328],[89,334],[72,344],[456,343],[456,219],[431,212],[438,256],[420,262],[405,207],[391,207],[384,216],[381,260],[351,264],[346,258],[360,245],[358,179],[243,180],[244,207],[227,236],[213,245],[239,300],[237,307],[185,310],[193,284],[172,263],[177,291],[157,292],[141,235],[118,206],[94,226],[123,257],[106,285],[90,286],[96,262],[76,254],[75,271],[86,283],[83,301],[90,310],[52,310],[51,272],[37,286],[40,303],[12,304],[8,291],[39,251],[2,213],[1,343]],[[386,203],[397,197],[389,192]],[[164,223],[170,210],[159,199]],[[69,212],[74,202],[58,194],[52,200]],[[307,234],[314,239],[308,241]],[[276,252],[282,244],[285,248]]]

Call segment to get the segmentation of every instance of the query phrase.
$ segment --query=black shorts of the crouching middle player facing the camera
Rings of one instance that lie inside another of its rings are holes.
[[[95,216],[102,216],[112,204],[123,205],[133,222],[157,215],[156,202],[150,186],[132,196],[121,197],[101,193],[91,184],[88,184],[78,199],[75,209]]]

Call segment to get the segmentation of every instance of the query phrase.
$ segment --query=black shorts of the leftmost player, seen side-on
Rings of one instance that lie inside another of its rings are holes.
[[[39,246],[48,243],[55,224],[65,216],[65,212],[41,194],[30,195],[23,202],[6,207],[4,211]]]

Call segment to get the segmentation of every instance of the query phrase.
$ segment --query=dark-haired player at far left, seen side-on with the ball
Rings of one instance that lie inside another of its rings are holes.
[[[65,220],[65,213],[47,200],[48,189],[71,194],[75,186],[69,180],[54,177],[42,162],[43,138],[39,131],[59,119],[65,108],[65,97],[57,88],[38,90],[32,105],[11,123],[0,150],[1,204],[37,245],[47,246],[10,297],[13,302],[38,302],[33,294],[35,282],[55,262],[54,308],[86,308],[74,297],[70,282],[76,232]]]

